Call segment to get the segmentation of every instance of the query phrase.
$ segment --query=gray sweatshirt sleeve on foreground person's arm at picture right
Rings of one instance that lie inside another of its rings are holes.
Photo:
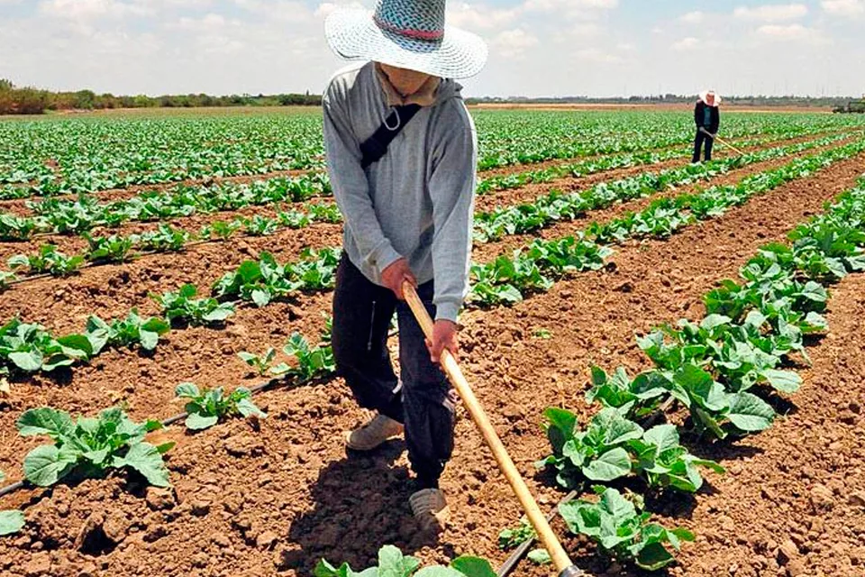
[[[457,320],[469,292],[471,227],[475,199],[477,135],[468,110],[460,102],[455,122],[442,122],[448,131],[434,152],[432,199],[432,271],[435,318]]]

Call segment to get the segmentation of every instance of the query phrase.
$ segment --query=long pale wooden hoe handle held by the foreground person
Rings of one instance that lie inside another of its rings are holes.
[[[432,318],[429,313],[426,312],[426,307],[423,306],[423,301],[417,296],[414,287],[407,282],[403,283],[403,295],[405,296],[405,301],[408,303],[408,306],[411,307],[418,324],[421,325],[423,334],[426,334],[427,338],[432,339]],[[501,439],[498,438],[496,429],[493,428],[492,424],[489,422],[487,414],[480,406],[478,398],[475,397],[474,391],[472,391],[469,386],[469,381],[462,375],[460,365],[457,364],[456,359],[453,358],[453,355],[449,351],[445,350],[442,352],[441,363],[442,370],[447,375],[448,379],[451,380],[453,388],[457,389],[460,398],[462,398],[463,404],[469,411],[469,415],[471,415],[471,419],[475,422],[475,425],[478,426],[481,435],[483,435],[484,439],[487,441],[490,450],[493,452],[493,456],[496,457],[496,463],[498,463],[499,469],[505,473],[505,478],[507,478],[507,481],[511,484],[511,488],[514,490],[516,498],[520,500],[520,504],[523,506],[526,517],[529,518],[532,527],[534,527],[534,530],[538,534],[539,541],[542,543],[544,548],[546,548],[547,553],[550,554],[552,563],[556,566],[556,570],[559,571],[560,575],[565,577],[578,577],[579,575],[584,575],[584,572],[580,571],[573,563],[571,563],[568,554],[565,553],[565,550],[559,543],[556,534],[552,532],[552,528],[550,527],[550,524],[547,523],[547,519],[544,517],[541,508],[538,507],[532,493],[526,486],[525,481],[523,481],[523,477],[521,477],[520,473],[517,471],[514,461],[511,460],[510,455],[507,454],[505,445],[502,444]]]

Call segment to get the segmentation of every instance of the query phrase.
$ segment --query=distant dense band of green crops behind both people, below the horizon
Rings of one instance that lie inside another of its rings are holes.
[[[479,169],[651,151],[691,138],[687,114],[474,113]],[[725,134],[796,136],[860,126],[828,115],[749,114]],[[320,114],[76,118],[0,124],[0,198],[96,192],[185,179],[323,167]]]

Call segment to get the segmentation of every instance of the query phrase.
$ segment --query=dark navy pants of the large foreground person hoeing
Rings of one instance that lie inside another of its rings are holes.
[[[432,281],[418,295],[434,316]],[[400,379],[387,352],[387,332],[396,311]],[[370,282],[345,254],[336,270],[333,295],[333,356],[363,408],[405,425],[408,459],[421,489],[437,488],[453,452],[456,396],[430,360],[423,330],[393,291]]]

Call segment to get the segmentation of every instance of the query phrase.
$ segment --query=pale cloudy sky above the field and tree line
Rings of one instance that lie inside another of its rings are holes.
[[[375,0],[0,0],[0,78],[113,94],[320,93],[323,21]],[[865,93],[865,0],[480,0],[469,96]]]

